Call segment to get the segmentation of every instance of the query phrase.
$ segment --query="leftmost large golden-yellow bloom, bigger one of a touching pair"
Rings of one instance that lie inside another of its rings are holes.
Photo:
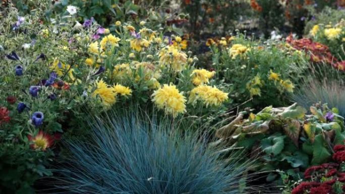
[[[116,102],[116,93],[113,87],[109,87],[103,80],[96,83],[96,90],[92,93],[92,97],[99,96],[105,107],[110,107]]]

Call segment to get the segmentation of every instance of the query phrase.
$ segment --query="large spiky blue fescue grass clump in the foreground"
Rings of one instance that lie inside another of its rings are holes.
[[[202,136],[133,114],[109,114],[92,128],[90,142],[68,142],[64,193],[240,193],[248,164],[220,160]]]

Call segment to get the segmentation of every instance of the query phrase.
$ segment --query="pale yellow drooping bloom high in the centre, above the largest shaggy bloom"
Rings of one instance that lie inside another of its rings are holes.
[[[187,54],[175,46],[167,46],[159,52],[159,63],[161,66],[170,67],[175,72],[185,69]]]

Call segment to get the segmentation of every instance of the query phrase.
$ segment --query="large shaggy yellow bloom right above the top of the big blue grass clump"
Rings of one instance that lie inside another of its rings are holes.
[[[172,84],[164,84],[162,88],[154,91],[152,101],[159,109],[164,109],[166,114],[172,114],[173,117],[186,112],[186,98]]]

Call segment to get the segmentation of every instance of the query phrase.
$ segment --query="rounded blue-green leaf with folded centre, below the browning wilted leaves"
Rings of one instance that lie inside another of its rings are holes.
[[[262,150],[266,154],[278,155],[284,148],[284,138],[285,136],[275,134],[261,140]]]

